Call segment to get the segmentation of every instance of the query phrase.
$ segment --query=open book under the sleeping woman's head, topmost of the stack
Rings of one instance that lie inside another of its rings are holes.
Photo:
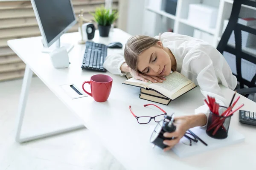
[[[131,78],[131,79],[125,80],[123,84],[150,89],[150,90],[156,91],[157,93],[162,94],[163,96],[166,96],[171,100],[176,99],[177,97],[185,94],[186,92],[196,87],[194,82],[192,82],[182,74],[178,73],[177,71],[172,72],[165,78],[166,80],[164,80],[162,83],[161,82],[153,83],[150,81],[143,82],[141,80]]]

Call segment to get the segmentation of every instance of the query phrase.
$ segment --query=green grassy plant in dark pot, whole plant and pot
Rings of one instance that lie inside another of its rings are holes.
[[[92,15],[95,22],[98,24],[99,36],[108,37],[111,24],[118,18],[118,13],[116,11],[110,13],[109,9],[101,6],[96,8],[95,13]]]

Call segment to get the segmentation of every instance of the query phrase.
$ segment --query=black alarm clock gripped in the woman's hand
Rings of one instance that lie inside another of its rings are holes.
[[[164,149],[168,147],[166,144],[163,144],[164,140],[171,140],[173,138],[166,138],[163,136],[165,132],[174,132],[176,130],[176,126],[173,125],[174,122],[174,114],[172,116],[164,116],[160,122],[157,123],[154,131],[151,134],[150,142],[154,145]]]

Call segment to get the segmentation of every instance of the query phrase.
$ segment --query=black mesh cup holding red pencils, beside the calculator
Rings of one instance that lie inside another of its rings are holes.
[[[227,107],[219,106],[219,114],[212,113],[212,111],[210,111],[206,130],[208,136],[215,139],[227,138],[230,119],[233,114],[230,116],[221,116],[221,114],[226,110]]]

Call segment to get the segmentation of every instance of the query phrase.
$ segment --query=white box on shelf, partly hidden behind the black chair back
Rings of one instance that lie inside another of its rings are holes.
[[[224,33],[226,27],[227,27],[228,20],[224,20],[223,23],[223,29],[222,29],[222,34]],[[250,26],[251,28],[256,28],[256,26]],[[242,36],[242,47],[250,47],[250,46],[255,46],[256,42],[256,35],[250,34],[246,31],[241,31],[241,36]],[[230,39],[228,40],[229,44],[235,44],[235,34],[234,31],[232,31],[230,35]]]

